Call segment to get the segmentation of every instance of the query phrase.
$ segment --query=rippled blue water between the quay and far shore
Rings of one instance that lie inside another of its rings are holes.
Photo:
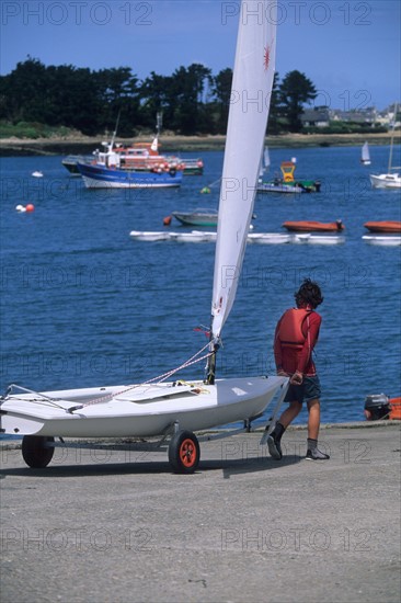
[[[277,319],[305,276],[324,294],[316,362],[324,422],[364,420],[369,394],[399,396],[399,247],[362,240],[366,220],[400,220],[400,193],[371,190],[369,172],[387,171],[389,147],[271,150],[271,174],[297,158],[297,177],[320,179],[320,194],[256,198],[255,231],[280,232],[286,219],[342,218],[342,246],[249,246],[217,375],[274,372]],[[183,153],[185,155],[185,153]],[[194,153],[186,153],[194,156]],[[174,368],[206,343],[213,243],[139,242],[130,230],[163,229],[174,209],[217,206],[222,152],[200,153],[203,177],[180,190],[93,191],[61,157],[1,160],[1,390],[10,383],[60,389],[136,383]],[[400,147],[394,152],[400,164]],[[31,177],[34,170],[43,179]],[[35,212],[19,214],[18,204]],[[179,224],[170,228],[179,229]],[[202,378],[204,364],[182,378]],[[305,414],[298,418],[303,422]]]

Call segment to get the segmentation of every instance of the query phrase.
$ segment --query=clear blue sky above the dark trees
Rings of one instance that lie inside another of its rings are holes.
[[[238,1],[2,0],[0,73],[45,65],[130,67],[139,79],[232,67]],[[332,109],[400,101],[399,0],[279,0],[276,70],[297,69]]]

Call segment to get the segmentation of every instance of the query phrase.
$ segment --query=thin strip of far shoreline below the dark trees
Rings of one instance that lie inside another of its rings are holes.
[[[142,135],[136,138],[118,138],[123,145],[149,143],[152,135]],[[379,134],[284,134],[268,136],[268,148],[310,148],[310,147],[353,147],[362,146],[365,140],[370,145],[389,145],[390,135]],[[161,152],[224,150],[226,136],[160,136]],[[398,135],[394,144],[399,145]],[[101,136],[71,136],[65,138],[3,138],[0,139],[0,157],[18,156],[55,156],[55,155],[85,155],[91,153],[102,144]]]

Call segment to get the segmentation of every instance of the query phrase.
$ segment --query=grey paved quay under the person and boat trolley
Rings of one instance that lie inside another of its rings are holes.
[[[2,603],[399,603],[400,423],[290,429],[163,453],[55,451],[30,469],[2,442]],[[11,445],[10,445],[11,444]]]

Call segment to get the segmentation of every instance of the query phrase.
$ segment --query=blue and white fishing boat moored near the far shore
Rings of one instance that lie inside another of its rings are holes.
[[[77,169],[83,178],[87,189],[158,189],[181,186],[182,170],[168,167],[162,170],[144,171],[122,168],[121,153],[107,146],[105,152],[99,152],[93,162],[77,162]]]

